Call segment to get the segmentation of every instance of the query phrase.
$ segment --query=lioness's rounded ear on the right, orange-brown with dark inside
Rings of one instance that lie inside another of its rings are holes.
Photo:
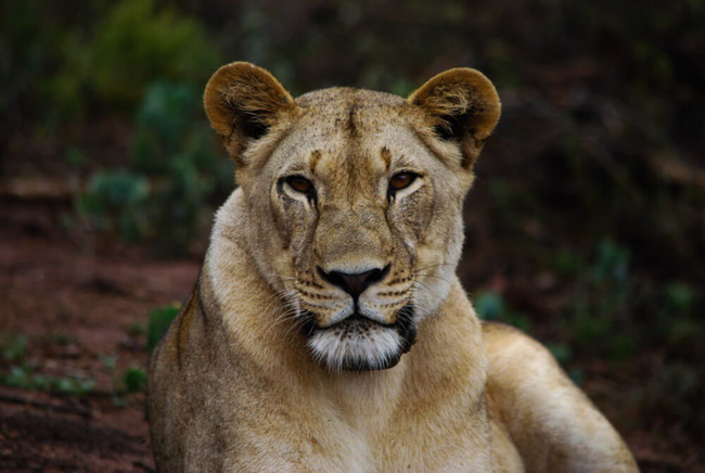
[[[465,168],[472,167],[479,155],[501,111],[492,82],[467,67],[432,77],[408,101],[427,113],[438,138],[460,144]]]

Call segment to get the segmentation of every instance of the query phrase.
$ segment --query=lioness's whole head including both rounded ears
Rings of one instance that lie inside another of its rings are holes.
[[[395,366],[450,290],[472,163],[499,115],[493,88],[453,69],[466,77],[437,76],[408,101],[357,89],[293,101],[262,69],[225,68],[206,111],[239,164],[253,254],[290,309],[282,317],[328,369]]]

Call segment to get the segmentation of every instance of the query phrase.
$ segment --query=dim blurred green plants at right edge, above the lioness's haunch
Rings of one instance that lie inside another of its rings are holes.
[[[619,361],[651,344],[682,353],[700,349],[705,324],[694,317],[698,293],[691,285],[651,286],[639,280],[629,269],[629,250],[612,240],[599,244],[589,265],[568,253],[556,258],[556,268],[575,280],[573,304],[561,322],[577,351]],[[576,263],[566,265],[571,258]]]

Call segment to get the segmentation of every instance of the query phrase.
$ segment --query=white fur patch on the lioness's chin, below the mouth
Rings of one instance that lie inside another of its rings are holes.
[[[308,340],[308,347],[333,371],[382,370],[396,363],[401,343],[394,329],[351,321],[344,327],[317,331]]]

